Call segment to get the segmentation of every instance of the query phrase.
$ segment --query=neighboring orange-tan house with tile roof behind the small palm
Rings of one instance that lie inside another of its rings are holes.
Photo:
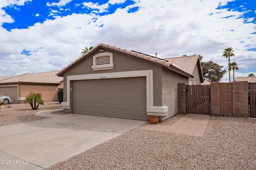
[[[30,92],[41,93],[44,101],[58,101],[63,77],[56,76],[57,72],[26,73],[0,80],[0,94],[10,96],[12,103],[23,103]]]

